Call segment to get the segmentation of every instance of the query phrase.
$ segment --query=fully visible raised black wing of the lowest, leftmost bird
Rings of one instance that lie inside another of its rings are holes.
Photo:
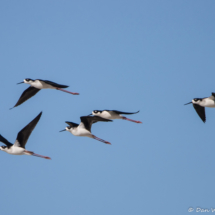
[[[26,125],[17,135],[15,145],[25,148],[25,144],[28,141],[29,136],[31,135],[31,132],[34,130],[35,126],[37,125],[38,121],[40,120],[40,117],[42,115],[42,112],[34,118],[28,125]]]

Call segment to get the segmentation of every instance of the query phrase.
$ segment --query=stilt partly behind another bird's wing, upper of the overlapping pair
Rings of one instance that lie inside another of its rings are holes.
[[[139,113],[139,111],[134,112],[134,113],[128,113],[128,112],[122,112],[122,111],[118,111],[118,110],[94,110],[92,112],[92,114],[89,114],[89,116],[94,115],[94,116],[100,116],[104,119],[124,119],[124,120],[128,120],[131,122],[142,123],[140,121],[128,119],[121,115],[121,114],[135,114],[135,113]]]

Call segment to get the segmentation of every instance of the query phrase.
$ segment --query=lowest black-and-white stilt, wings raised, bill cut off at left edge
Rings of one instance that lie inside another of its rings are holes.
[[[31,132],[34,130],[35,126],[37,125],[38,121],[40,120],[41,115],[42,115],[42,112],[40,112],[37,117],[35,117],[28,125],[26,125],[18,133],[14,144],[10,143],[2,135],[0,135],[0,141],[6,145],[6,146],[1,146],[0,150],[7,152],[8,154],[11,154],[11,155],[33,155],[36,157],[41,157],[41,158],[50,160],[51,159],[50,157],[38,155],[38,154],[35,154],[34,152],[31,152],[25,149],[25,145],[28,141],[28,138],[31,135]]]

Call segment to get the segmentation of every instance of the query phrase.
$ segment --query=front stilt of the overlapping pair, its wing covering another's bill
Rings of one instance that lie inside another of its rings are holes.
[[[90,137],[95,140],[101,141],[106,144],[111,144],[108,141],[102,140],[95,135],[91,133],[91,127],[93,123],[103,121],[103,122],[111,122],[112,120],[109,119],[104,119],[99,116],[82,116],[80,117],[81,123],[78,125],[74,122],[66,122],[69,126],[67,126],[64,130],[62,131],[69,131],[75,136],[83,136],[83,137]],[[60,131],[60,132],[62,132]]]

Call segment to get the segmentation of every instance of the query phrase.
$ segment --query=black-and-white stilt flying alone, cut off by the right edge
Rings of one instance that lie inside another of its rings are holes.
[[[193,104],[199,117],[203,122],[206,122],[205,107],[215,108],[215,93],[212,93],[210,97],[206,98],[194,98],[191,102],[184,105],[188,104]]]

